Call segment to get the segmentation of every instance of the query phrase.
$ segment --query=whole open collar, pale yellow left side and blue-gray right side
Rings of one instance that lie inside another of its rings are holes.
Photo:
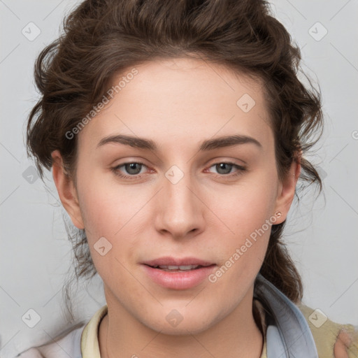
[[[265,313],[265,317],[261,316],[262,325],[266,326],[262,357],[318,358],[310,328],[299,308],[261,274],[255,281],[254,300],[259,301]],[[83,329],[83,358],[101,358],[98,331],[107,313],[108,306],[101,307]]]

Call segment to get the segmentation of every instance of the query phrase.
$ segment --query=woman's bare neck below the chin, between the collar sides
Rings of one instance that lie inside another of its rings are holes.
[[[162,334],[108,302],[99,327],[101,358],[259,358],[263,337],[252,315],[252,292],[224,319],[198,334]]]

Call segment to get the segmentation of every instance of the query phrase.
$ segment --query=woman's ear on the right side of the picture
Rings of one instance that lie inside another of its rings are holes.
[[[275,224],[280,224],[286,220],[287,213],[291,207],[292,201],[294,200],[297,180],[299,180],[299,175],[301,173],[301,156],[302,152],[299,152],[296,155],[289,168],[289,172],[280,182],[275,212],[279,211],[282,215],[278,217]]]

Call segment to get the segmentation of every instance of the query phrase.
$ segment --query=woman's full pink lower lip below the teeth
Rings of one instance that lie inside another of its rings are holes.
[[[160,268],[154,268],[143,265],[147,275],[158,285],[171,289],[189,289],[199,285],[205,280],[216,265],[196,268],[188,271],[164,271]]]

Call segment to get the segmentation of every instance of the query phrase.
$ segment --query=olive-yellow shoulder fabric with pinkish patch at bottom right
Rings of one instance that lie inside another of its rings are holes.
[[[329,320],[319,309],[299,303],[296,305],[308,322],[321,358],[357,358],[358,329],[352,324]]]

